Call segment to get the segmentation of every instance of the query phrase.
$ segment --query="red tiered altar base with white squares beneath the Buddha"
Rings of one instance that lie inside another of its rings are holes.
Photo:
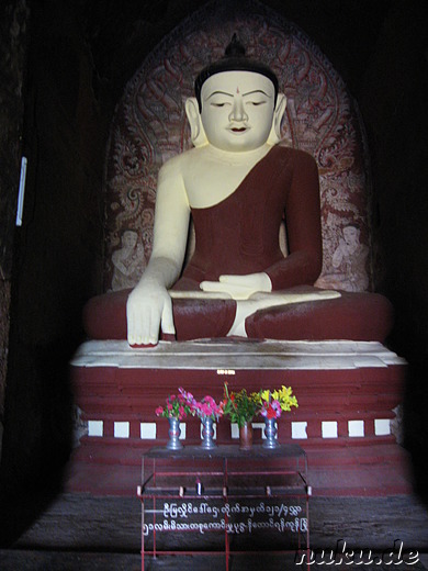
[[[179,387],[196,398],[232,390],[291,385],[299,408],[279,421],[281,443],[308,455],[318,495],[409,493],[404,450],[394,436],[405,362],[379,343],[189,342],[129,349],[126,342],[89,342],[71,362],[76,403],[86,435],[75,450],[67,489],[134,494],[142,454],[168,438],[155,408]],[[182,425],[184,445],[200,441],[200,422]],[[219,444],[237,441],[228,421]],[[255,438],[262,438],[255,419]]]

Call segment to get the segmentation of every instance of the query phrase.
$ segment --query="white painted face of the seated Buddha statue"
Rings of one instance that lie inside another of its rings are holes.
[[[252,71],[223,71],[201,90],[201,120],[209,143],[229,152],[261,147],[273,123],[274,87]]]

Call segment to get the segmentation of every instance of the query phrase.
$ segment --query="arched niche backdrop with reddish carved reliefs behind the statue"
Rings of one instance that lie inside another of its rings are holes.
[[[143,61],[125,87],[106,152],[105,290],[133,287],[151,251],[157,173],[191,147],[184,101],[198,72],[223,56],[237,33],[247,54],[266,61],[288,97],[282,144],[309,152],[320,176],[324,265],[316,283],[348,291],[370,289],[370,176],[364,131],[356,102],[327,57],[296,25],[259,2],[214,1],[184,20]],[[334,262],[343,228],[359,228],[360,248]],[[136,238],[116,273],[124,232]]]

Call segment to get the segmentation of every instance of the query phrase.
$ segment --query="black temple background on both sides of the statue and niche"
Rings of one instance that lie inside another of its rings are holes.
[[[103,291],[102,182],[115,105],[145,57],[204,3],[5,0],[0,8],[3,549],[63,489],[74,425],[68,362],[85,339],[82,307]],[[395,311],[386,346],[408,362],[403,446],[415,497],[426,505],[428,7],[423,0],[263,4],[319,46],[365,125],[374,289]],[[22,155],[25,204],[15,226]]]

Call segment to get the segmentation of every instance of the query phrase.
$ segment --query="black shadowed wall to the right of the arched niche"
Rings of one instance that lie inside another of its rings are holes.
[[[428,5],[392,2],[359,88],[371,152],[378,289],[392,301],[390,345],[409,362],[405,446],[427,495]],[[423,454],[421,454],[423,452]]]

